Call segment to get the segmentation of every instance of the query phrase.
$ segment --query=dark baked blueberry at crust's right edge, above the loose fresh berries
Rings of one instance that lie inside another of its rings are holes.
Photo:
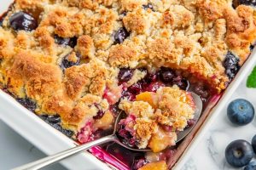
[[[236,73],[240,69],[240,65],[238,63],[239,59],[229,51],[228,54],[226,54],[223,65],[225,68],[225,73],[230,78],[230,80],[236,76]]]

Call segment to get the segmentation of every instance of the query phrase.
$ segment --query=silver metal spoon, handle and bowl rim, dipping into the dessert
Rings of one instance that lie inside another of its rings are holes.
[[[196,105],[196,111],[195,111],[195,116],[194,116],[194,120],[195,122],[198,121],[199,117],[201,116],[201,110],[202,110],[202,101],[201,98],[194,93],[191,93],[192,97],[195,101],[195,105]],[[117,144],[120,144],[121,146],[125,147],[128,150],[135,150],[135,151],[150,151],[150,150],[140,150],[140,149],[133,149],[125,144],[123,144],[122,142],[120,142],[120,140],[118,139],[116,132],[117,132],[117,128],[118,128],[118,124],[119,121],[121,119],[121,113],[119,113],[119,116],[116,118],[115,122],[114,122],[114,127],[113,127],[113,133],[111,135],[108,135],[106,137],[102,137],[101,139],[96,139],[94,141],[85,143],[85,144],[81,144],[79,146],[75,146],[69,150],[64,150],[61,151],[55,155],[52,156],[47,156],[43,159],[40,159],[38,161],[33,161],[31,163],[28,163],[26,165],[23,165],[21,167],[16,167],[13,170],[37,170],[40,169],[42,167],[47,167],[57,161],[61,161],[69,156],[73,156],[75,154],[78,154],[79,152],[82,152],[84,150],[88,150],[93,146],[99,145],[99,144],[105,144],[108,142],[115,142]],[[196,124],[196,123],[195,123]],[[187,127],[186,129],[184,129],[182,132],[177,133],[177,141],[180,141],[181,139],[185,138],[189,132],[193,129],[193,127],[195,127],[195,124],[191,127]]]

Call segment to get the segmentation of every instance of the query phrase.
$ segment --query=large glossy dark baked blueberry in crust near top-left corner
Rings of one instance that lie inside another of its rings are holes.
[[[35,20],[32,15],[26,14],[25,12],[18,12],[10,16],[10,26],[15,31],[33,31],[38,27],[38,21]]]

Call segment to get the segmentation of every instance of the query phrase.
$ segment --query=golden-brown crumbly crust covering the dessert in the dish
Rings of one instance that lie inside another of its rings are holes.
[[[229,82],[225,54],[230,50],[242,65],[256,38],[254,9],[234,9],[225,0],[150,1],[154,10],[142,8],[146,0],[58,2],[15,1],[0,28],[0,83],[16,97],[37,101],[38,114],[60,114],[64,126],[76,132],[96,114],[87,99],[97,97],[103,105],[104,90],[118,87],[119,68],[169,66],[221,92]],[[10,15],[20,10],[36,15],[40,23],[35,31],[10,29]],[[130,36],[114,44],[120,27]],[[55,35],[78,37],[78,44],[58,45]],[[62,71],[61,60],[76,62],[77,55],[80,65]],[[84,111],[88,108],[90,113]]]

